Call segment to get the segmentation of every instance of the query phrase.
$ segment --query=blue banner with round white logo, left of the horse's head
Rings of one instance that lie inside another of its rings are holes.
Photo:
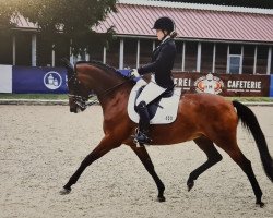
[[[13,66],[12,93],[68,93],[67,70],[63,68]]]

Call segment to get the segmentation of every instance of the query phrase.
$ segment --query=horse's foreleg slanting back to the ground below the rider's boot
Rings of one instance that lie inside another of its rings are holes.
[[[155,172],[154,165],[150,158],[150,155],[147,154],[146,148],[134,147],[134,146],[131,146],[131,148],[138,155],[138,157],[140,158],[141,162],[144,165],[147,172],[154,179],[157,190],[158,190],[157,201],[165,202],[165,197],[164,197],[165,185],[163,184],[162,180],[158,178],[157,173]]]

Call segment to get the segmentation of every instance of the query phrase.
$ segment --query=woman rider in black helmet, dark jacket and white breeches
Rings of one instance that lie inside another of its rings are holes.
[[[174,38],[177,36],[175,32],[175,23],[169,17],[159,17],[154,23],[153,29],[156,29],[157,39],[161,44],[152,53],[152,61],[145,65],[133,70],[131,75],[139,77],[145,73],[153,73],[151,82],[144,87],[141,95],[136,99],[136,109],[140,116],[139,130],[135,140],[140,144],[149,144],[150,116],[147,105],[166,90],[174,88],[171,77],[171,69],[176,58],[176,44]]]

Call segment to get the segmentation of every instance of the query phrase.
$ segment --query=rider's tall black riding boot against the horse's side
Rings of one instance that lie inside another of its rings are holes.
[[[139,116],[140,116],[140,122],[139,122],[139,131],[135,134],[135,141],[138,141],[140,144],[149,144],[151,140],[149,138],[149,129],[150,129],[150,116],[147,112],[147,107],[145,101],[141,101],[136,106]]]

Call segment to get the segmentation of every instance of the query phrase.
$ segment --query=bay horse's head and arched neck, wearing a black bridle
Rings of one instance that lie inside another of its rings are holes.
[[[86,107],[97,102],[88,99],[96,94],[100,104],[109,102],[109,98],[116,95],[117,90],[126,84],[131,88],[134,83],[128,75],[121,74],[116,69],[97,61],[80,61],[75,68],[67,59],[62,59],[68,70],[69,106],[71,112],[79,112]],[[132,82],[132,83],[128,83]]]

